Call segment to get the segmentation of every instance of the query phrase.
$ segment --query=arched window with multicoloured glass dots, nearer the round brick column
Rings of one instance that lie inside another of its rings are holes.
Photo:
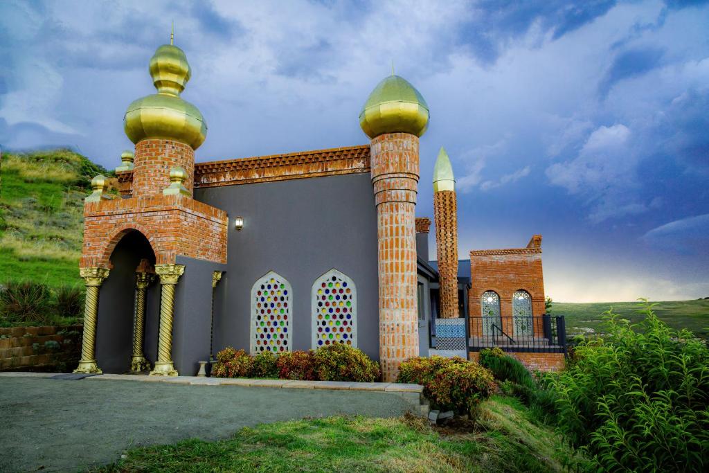
[[[357,347],[357,287],[330,269],[313,283],[313,348],[344,343]]]

